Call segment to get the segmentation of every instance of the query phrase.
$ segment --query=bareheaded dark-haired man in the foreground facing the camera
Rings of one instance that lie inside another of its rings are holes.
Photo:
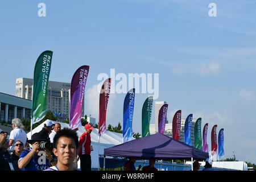
[[[46,171],[71,171],[78,145],[76,131],[68,128],[57,131],[53,140],[53,153],[57,157],[57,164]]]

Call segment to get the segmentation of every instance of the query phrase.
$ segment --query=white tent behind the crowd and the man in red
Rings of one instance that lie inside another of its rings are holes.
[[[46,122],[46,121],[45,121]],[[41,123],[38,127],[36,127],[34,130],[32,130],[32,134],[38,133],[42,130],[44,123]],[[52,121],[53,123],[56,123],[56,121]],[[69,128],[68,123],[62,123],[58,122],[61,125],[61,129],[64,127]],[[79,130],[77,130],[77,135],[80,138],[82,133],[84,133],[85,129],[84,126],[79,127]],[[91,152],[91,158],[92,158],[92,168],[98,169],[98,155],[100,152],[100,155],[104,154],[104,148],[113,147],[117,144],[122,143],[123,134],[121,133],[115,133],[112,131],[106,131],[104,135],[100,138],[100,150],[98,150],[98,129],[93,129],[92,133],[90,134],[91,140],[92,140],[92,146],[93,151]],[[27,138],[31,139],[31,132],[27,133]],[[80,160],[78,162],[78,168],[80,168]]]

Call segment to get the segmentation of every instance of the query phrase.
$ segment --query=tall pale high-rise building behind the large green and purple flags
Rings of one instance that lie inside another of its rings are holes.
[[[59,120],[69,117],[70,87],[71,84],[67,82],[48,82],[47,110],[53,111]],[[32,100],[32,90],[33,79],[16,78],[16,97]],[[84,100],[81,115],[84,116]]]

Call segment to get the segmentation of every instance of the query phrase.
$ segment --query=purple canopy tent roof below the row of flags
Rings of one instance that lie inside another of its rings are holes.
[[[207,152],[189,146],[183,142],[156,133],[147,137],[131,140],[114,147],[104,149],[105,156],[129,157],[135,156],[137,159],[201,159],[209,158]]]

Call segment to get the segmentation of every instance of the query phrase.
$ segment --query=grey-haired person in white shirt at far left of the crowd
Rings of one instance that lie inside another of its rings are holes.
[[[22,143],[27,142],[27,134],[23,131],[20,126],[22,126],[22,122],[18,118],[14,118],[11,123],[13,123],[13,130],[11,130],[9,137],[9,146],[12,146],[16,141],[20,140]],[[11,147],[10,150],[14,150],[14,147]]]

